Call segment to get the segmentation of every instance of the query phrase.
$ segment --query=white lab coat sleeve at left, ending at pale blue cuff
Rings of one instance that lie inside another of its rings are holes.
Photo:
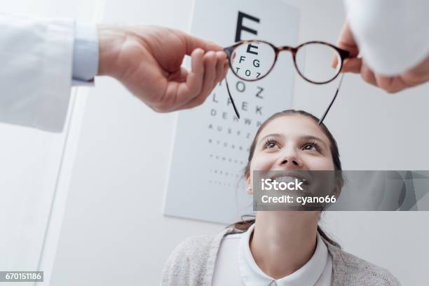
[[[0,14],[0,122],[62,132],[74,21]]]

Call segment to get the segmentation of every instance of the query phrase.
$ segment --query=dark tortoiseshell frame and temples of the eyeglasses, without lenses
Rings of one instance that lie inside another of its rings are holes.
[[[273,65],[270,67],[270,69],[268,69],[268,71],[266,72],[266,74],[264,74],[264,76],[261,76],[259,79],[245,79],[245,78],[239,76],[233,70],[233,66],[232,66],[232,62],[231,62],[231,56],[233,55],[233,51],[238,46],[246,45],[247,43],[252,43],[252,42],[266,43],[269,46],[271,46],[271,48],[273,48],[273,50],[275,51],[275,57],[274,57]],[[327,46],[333,48],[334,50],[336,50],[337,53],[339,53],[340,60],[341,60],[340,63],[339,63],[340,67],[339,67],[338,71],[336,72],[335,76],[332,77],[332,79],[329,79],[328,81],[322,81],[322,82],[311,81],[310,79],[307,79],[303,74],[301,74],[301,71],[299,71],[299,68],[297,66],[297,60],[296,60],[297,52],[298,52],[299,48],[302,48],[303,46],[306,46],[306,45],[311,44],[311,43],[320,43],[320,44],[323,44],[323,45],[327,45]],[[261,79],[264,79],[264,77],[268,76],[268,74],[273,70],[273,68],[275,66],[275,63],[277,62],[279,53],[282,52],[282,51],[284,51],[284,50],[290,51],[292,53],[292,59],[293,59],[293,62],[294,62],[294,67],[297,70],[298,74],[301,76],[301,78],[303,78],[305,81],[308,81],[309,83],[314,83],[314,84],[325,84],[325,83],[330,83],[331,81],[334,81],[334,79],[336,79],[338,77],[338,75],[340,74],[340,72],[341,72],[341,68],[343,67],[344,60],[346,60],[348,57],[350,57],[350,52],[348,52],[348,50],[343,50],[341,48],[338,48],[338,47],[332,45],[331,43],[327,43],[327,42],[324,42],[324,41],[308,41],[308,42],[305,42],[305,43],[301,43],[297,47],[292,47],[292,46],[278,46],[278,47],[276,47],[272,43],[269,43],[268,41],[261,41],[261,40],[252,39],[252,40],[238,41],[237,43],[234,43],[232,46],[224,48],[224,52],[226,53],[226,56],[228,57],[228,62],[229,62],[230,69],[233,71],[233,74],[238,77],[238,79],[242,79],[243,81],[259,81]],[[233,105],[233,109],[236,112],[236,116],[238,118],[240,118],[240,114],[238,113],[236,104],[233,101],[233,98],[232,98],[232,95],[231,95],[231,91],[229,90],[229,85],[228,85],[228,81],[226,80],[226,77],[225,77],[225,83],[226,83],[226,89],[228,90],[229,99],[231,100],[231,103]],[[336,93],[338,93],[338,90],[336,91]],[[329,104],[329,108],[332,105],[332,102],[331,102],[331,104]],[[329,110],[329,108],[328,108],[328,110]],[[326,116],[326,113],[327,112],[325,112],[325,116]]]

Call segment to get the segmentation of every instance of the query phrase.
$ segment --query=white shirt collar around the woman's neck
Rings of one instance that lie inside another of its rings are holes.
[[[257,266],[252,252],[250,252],[249,240],[250,235],[254,230],[255,224],[243,233],[240,238],[238,264],[240,268],[241,278],[246,286],[302,286],[302,285],[315,285],[315,283],[322,275],[323,270],[328,261],[328,251],[319,233],[317,234],[317,246],[313,257],[307,261],[304,266],[299,268],[294,273],[287,275],[283,278],[275,280],[266,275],[259,266]],[[273,282],[275,281],[275,282]]]

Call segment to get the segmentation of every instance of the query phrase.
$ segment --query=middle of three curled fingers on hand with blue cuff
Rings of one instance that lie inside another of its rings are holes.
[[[213,51],[206,53],[204,56],[204,71],[203,88],[200,95],[194,97],[186,104],[182,104],[182,106],[177,107],[176,110],[197,107],[198,105],[203,104],[207,96],[210,95],[210,92],[214,88],[214,79],[216,76],[216,55]]]

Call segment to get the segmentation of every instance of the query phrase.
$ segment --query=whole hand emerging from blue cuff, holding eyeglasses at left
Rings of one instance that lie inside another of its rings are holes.
[[[223,48],[175,29],[99,26],[99,75],[113,76],[151,109],[202,104],[228,70]],[[191,55],[191,71],[182,66]]]

